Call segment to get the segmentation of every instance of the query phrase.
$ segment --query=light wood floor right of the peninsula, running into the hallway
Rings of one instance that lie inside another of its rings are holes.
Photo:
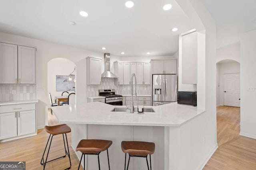
[[[256,139],[239,135],[240,108],[217,107],[218,149],[204,170],[256,170]]]

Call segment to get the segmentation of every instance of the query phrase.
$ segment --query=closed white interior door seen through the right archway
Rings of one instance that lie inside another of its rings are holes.
[[[224,106],[240,107],[240,73],[224,74]]]

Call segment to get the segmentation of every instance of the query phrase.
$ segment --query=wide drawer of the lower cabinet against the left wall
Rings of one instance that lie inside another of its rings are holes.
[[[13,104],[13,105],[0,106],[0,113],[35,110],[35,109],[36,109],[36,104]]]

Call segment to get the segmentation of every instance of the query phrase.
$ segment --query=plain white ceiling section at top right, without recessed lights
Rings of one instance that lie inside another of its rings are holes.
[[[256,0],[202,0],[217,25],[217,47],[239,41],[256,29]],[[238,38],[236,38],[238,36]]]

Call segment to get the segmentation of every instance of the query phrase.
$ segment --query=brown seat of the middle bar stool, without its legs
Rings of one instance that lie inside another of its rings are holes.
[[[100,140],[100,139],[82,139],[77,147],[76,151],[80,151],[83,154],[97,154],[104,150],[107,150],[112,145],[112,141]]]

